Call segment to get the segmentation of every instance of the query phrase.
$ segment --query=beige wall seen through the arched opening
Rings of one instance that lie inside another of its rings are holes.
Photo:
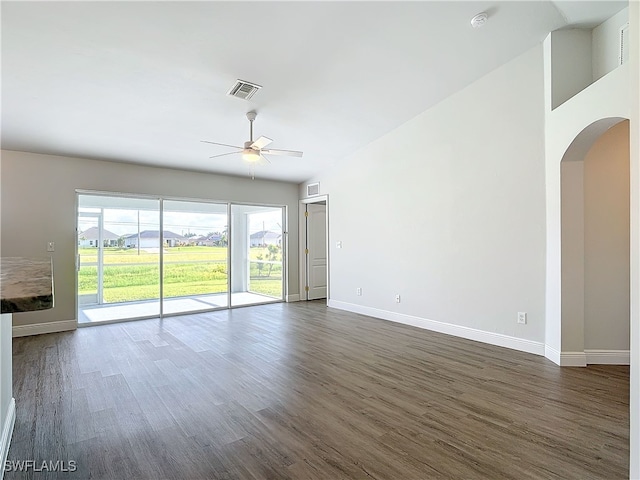
[[[629,350],[629,222],[629,122],[621,122],[584,159],[586,350]]]

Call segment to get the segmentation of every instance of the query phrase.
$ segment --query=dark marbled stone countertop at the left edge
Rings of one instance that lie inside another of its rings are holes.
[[[0,258],[0,303],[2,313],[53,308],[51,258]]]

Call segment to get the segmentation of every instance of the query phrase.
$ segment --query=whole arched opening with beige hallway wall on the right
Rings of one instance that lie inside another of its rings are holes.
[[[560,164],[563,364],[629,364],[629,160],[629,121],[606,118]]]

